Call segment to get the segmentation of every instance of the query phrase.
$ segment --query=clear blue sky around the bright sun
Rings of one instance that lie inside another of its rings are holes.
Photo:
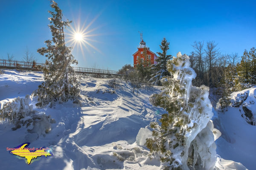
[[[160,52],[163,37],[169,54],[190,54],[195,41],[215,41],[222,54],[256,47],[255,0],[56,0],[72,27],[84,24],[92,35],[90,45],[74,46],[80,67],[118,70],[133,64],[140,34],[153,52]],[[7,53],[21,60],[26,47],[38,62],[36,51],[51,39],[48,0],[0,0],[0,58]],[[66,30],[70,33],[69,30]],[[68,40],[68,37],[66,38]],[[67,45],[71,45],[68,43]]]

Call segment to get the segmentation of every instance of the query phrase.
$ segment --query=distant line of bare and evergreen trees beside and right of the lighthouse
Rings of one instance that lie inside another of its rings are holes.
[[[249,88],[256,84],[256,57],[255,48],[245,50],[243,56],[237,53],[221,54],[218,44],[214,41],[195,41],[192,45],[194,50],[189,55],[191,67],[195,70],[197,77],[192,81],[194,86],[207,85],[216,88],[220,97],[229,96],[233,91]],[[163,38],[161,52],[157,52],[157,64],[150,65],[146,58],[146,49],[139,55],[138,63],[134,68],[124,65],[119,74],[130,80],[134,88],[141,85],[162,85],[161,79],[170,76],[166,69],[166,63],[172,59],[167,55],[169,42]]]

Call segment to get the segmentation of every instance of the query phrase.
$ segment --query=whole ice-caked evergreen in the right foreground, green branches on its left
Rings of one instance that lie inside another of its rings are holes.
[[[150,102],[168,113],[160,125],[151,122],[152,137],[146,139],[151,155],[160,156],[164,169],[213,170],[216,145],[212,133],[212,105],[209,88],[192,86],[195,71],[189,57],[180,52],[167,63],[172,77],[162,79],[163,91],[153,94]]]

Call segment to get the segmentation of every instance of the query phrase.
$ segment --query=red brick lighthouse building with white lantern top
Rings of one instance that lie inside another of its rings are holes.
[[[143,51],[146,51],[146,55],[143,55]],[[142,33],[140,33],[140,46],[138,47],[138,51],[133,54],[134,57],[134,67],[139,63],[139,59],[141,62],[148,61],[149,64],[157,64],[155,59],[157,59],[157,55],[154,52],[149,50],[149,47],[146,46],[146,42],[142,39]]]

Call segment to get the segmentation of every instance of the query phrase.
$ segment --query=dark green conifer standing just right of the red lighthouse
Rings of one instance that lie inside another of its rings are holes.
[[[163,52],[157,52],[157,54],[159,55],[156,59],[157,64],[152,65],[152,70],[154,71],[154,74],[151,75],[152,78],[149,80],[150,82],[152,82],[152,85],[161,85],[160,80],[163,77],[170,75],[166,68],[167,61],[172,58],[172,55],[167,55],[169,45],[170,42],[167,42],[166,38],[163,38],[160,45],[160,48]]]

